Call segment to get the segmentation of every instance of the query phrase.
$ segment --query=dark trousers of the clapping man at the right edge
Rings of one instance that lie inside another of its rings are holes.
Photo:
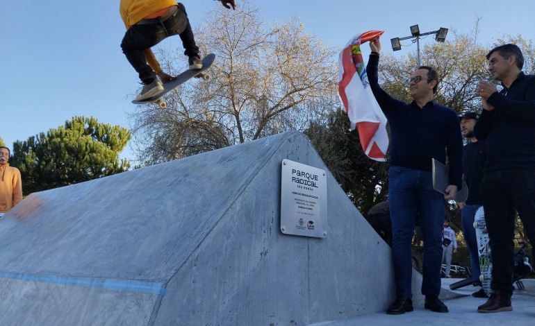
[[[484,172],[482,198],[493,271],[491,289],[513,293],[515,209],[529,241],[535,241],[535,170]]]

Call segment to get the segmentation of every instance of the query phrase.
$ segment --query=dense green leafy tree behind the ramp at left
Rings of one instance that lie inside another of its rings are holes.
[[[126,171],[119,153],[131,135],[126,128],[74,117],[65,126],[13,144],[12,165],[22,175],[24,194],[101,178]]]

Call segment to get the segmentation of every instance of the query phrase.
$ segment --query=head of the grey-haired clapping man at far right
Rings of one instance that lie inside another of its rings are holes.
[[[488,71],[495,80],[504,80],[507,77],[516,77],[524,67],[524,56],[515,44],[496,46],[486,55]]]

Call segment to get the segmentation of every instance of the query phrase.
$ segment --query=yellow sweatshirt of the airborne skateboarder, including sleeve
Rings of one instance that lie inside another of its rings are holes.
[[[176,6],[176,1],[174,0],[121,0],[119,5],[119,12],[121,13],[122,21],[126,29],[130,29],[133,25],[138,23],[141,19],[162,10],[170,6]],[[145,55],[145,60],[152,70],[156,74],[160,74],[163,70],[160,67],[160,63],[156,60],[154,53],[151,49],[143,51]]]

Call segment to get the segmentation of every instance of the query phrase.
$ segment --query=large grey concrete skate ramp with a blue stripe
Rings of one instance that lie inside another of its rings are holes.
[[[331,173],[327,238],[281,232],[284,159],[327,171],[285,132],[31,194],[0,219],[0,324],[306,325],[386,309],[390,249]]]

